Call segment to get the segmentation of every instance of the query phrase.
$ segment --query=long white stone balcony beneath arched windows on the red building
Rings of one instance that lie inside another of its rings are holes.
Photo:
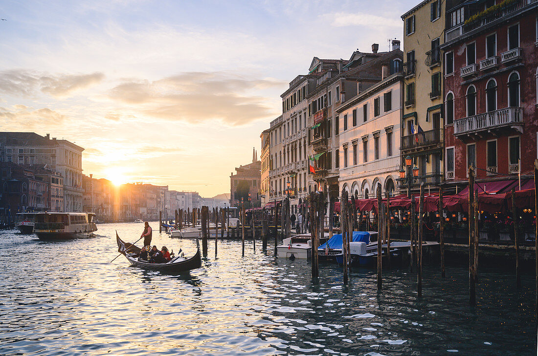
[[[506,127],[514,127],[521,132],[522,125],[523,110],[521,108],[504,108],[455,120],[454,135],[467,135],[478,131]]]

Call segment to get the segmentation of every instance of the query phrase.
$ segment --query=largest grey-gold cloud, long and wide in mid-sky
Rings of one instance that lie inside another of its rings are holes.
[[[156,81],[124,81],[110,90],[109,98],[130,104],[145,116],[190,123],[218,120],[236,126],[277,115],[272,98],[252,93],[283,86],[274,79],[187,72]]]

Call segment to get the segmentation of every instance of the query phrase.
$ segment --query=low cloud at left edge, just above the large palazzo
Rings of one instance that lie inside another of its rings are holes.
[[[34,109],[25,105],[14,105],[12,109],[0,107],[0,120],[5,119],[30,127],[38,124],[61,124],[66,118],[66,115],[49,108]]]

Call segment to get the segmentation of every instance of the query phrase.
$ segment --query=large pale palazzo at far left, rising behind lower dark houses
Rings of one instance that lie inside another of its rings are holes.
[[[43,164],[63,177],[63,207],[82,211],[82,147],[66,139],[34,132],[0,132],[0,157],[4,162]]]

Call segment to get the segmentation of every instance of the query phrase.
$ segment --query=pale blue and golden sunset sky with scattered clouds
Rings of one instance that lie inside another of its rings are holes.
[[[116,183],[230,192],[313,57],[402,39],[418,1],[0,2],[0,130],[84,148]]]

